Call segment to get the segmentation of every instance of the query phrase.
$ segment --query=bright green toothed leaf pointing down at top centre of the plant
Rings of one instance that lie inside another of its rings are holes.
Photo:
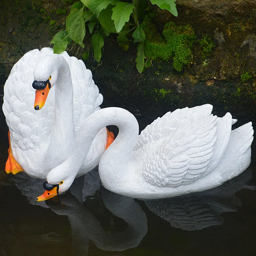
[[[124,2],[117,4],[116,7],[112,8],[113,14],[111,19],[114,20],[117,33],[122,30],[125,22],[130,20],[133,8],[133,4]]]

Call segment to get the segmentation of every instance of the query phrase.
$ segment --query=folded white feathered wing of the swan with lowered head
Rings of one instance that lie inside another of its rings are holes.
[[[158,120],[162,127],[149,131],[150,141],[136,152],[145,181],[158,187],[188,185],[217,166],[228,145],[232,117],[227,113],[218,119],[209,110],[209,105],[183,108],[168,114],[169,123]]]

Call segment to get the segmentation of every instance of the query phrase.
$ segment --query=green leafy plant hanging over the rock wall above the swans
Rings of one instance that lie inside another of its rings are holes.
[[[176,0],[150,0],[152,4],[166,9],[177,16]],[[92,35],[92,47],[94,58],[100,62],[101,49],[104,46],[104,38],[110,33],[116,33],[117,43],[128,50],[132,42],[137,46],[136,67],[141,73],[144,68],[144,46],[146,36],[141,27],[140,20],[148,10],[147,0],[132,0],[132,3],[121,0],[80,0],[75,2],[66,20],[66,31],[58,32],[52,39],[54,52],[60,53],[66,50],[73,40],[84,48],[84,36],[86,30]]]

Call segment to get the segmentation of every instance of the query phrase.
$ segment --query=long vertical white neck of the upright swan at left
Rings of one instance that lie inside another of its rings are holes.
[[[58,77],[55,84],[54,124],[47,159],[56,155],[57,148],[58,156],[63,156],[60,160],[62,163],[70,153],[75,140],[73,84],[68,62],[61,55],[52,54],[49,63],[52,70],[57,69]]]

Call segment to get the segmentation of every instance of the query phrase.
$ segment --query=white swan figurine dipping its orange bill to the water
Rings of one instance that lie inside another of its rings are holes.
[[[100,159],[102,185],[134,198],[173,197],[221,185],[251,162],[252,123],[231,130],[232,117],[213,116],[212,105],[166,113],[138,136],[136,118],[122,108],[92,113],[81,126],[72,153],[52,169],[38,200],[65,192],[79,176],[96,134],[106,125],[119,133]]]

